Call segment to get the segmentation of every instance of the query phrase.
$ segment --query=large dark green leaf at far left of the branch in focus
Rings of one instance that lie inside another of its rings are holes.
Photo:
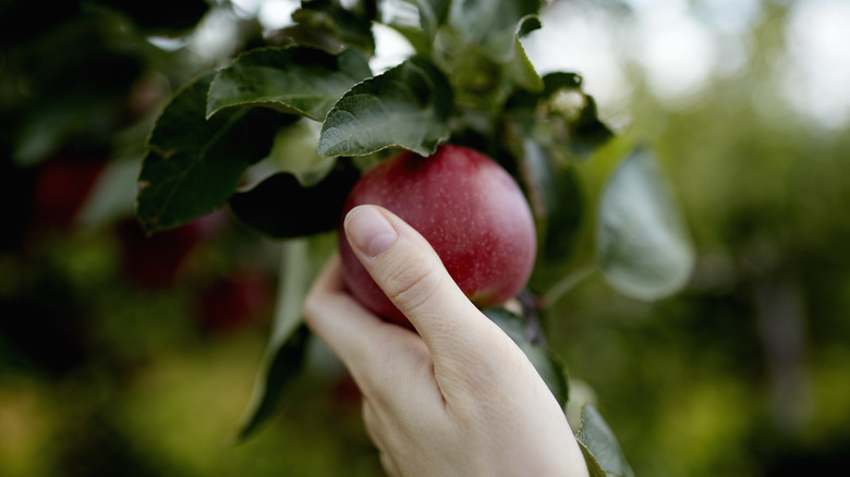
[[[265,108],[233,108],[206,120],[212,76],[203,75],[180,90],[150,134],[136,196],[136,215],[148,233],[226,204],[245,169],[268,154],[278,127],[295,118]]]

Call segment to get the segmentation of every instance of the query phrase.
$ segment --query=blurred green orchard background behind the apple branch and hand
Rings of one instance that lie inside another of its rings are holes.
[[[0,475],[380,475],[320,347],[235,443],[279,244],[226,212],[153,237],[132,220],[174,88],[296,7],[0,1]],[[559,0],[543,24],[538,72],[582,74],[604,121],[656,145],[697,250],[675,297],[593,277],[558,302],[573,397],[639,476],[846,468],[850,2]],[[410,51],[376,35],[376,69]]]

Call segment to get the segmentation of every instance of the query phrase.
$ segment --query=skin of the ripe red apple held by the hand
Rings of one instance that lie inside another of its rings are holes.
[[[505,169],[462,146],[430,157],[401,152],[368,170],[349,193],[342,218],[359,205],[378,205],[416,229],[449,274],[478,307],[514,297],[531,276],[536,234],[531,208]],[[364,307],[411,327],[368,274],[340,222],[343,282]]]

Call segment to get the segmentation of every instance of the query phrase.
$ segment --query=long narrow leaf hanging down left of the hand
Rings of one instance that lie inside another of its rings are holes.
[[[336,246],[335,233],[282,243],[275,321],[245,409],[239,433],[242,440],[276,415],[281,396],[302,369],[306,340],[302,305],[311,283]]]

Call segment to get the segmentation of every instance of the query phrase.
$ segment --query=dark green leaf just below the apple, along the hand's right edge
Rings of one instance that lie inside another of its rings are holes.
[[[549,348],[532,341],[521,316],[505,308],[486,309],[484,315],[501,328],[520,346],[525,356],[529,357],[529,360],[534,365],[537,374],[546,382],[546,386],[549,387],[549,391],[558,400],[561,407],[566,406],[569,387],[563,362]]]

